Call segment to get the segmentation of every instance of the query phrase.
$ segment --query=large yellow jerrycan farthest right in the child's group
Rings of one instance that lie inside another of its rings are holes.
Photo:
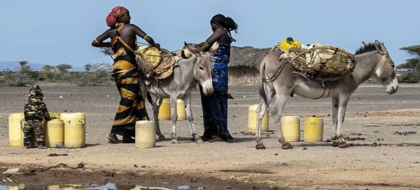
[[[85,113],[61,113],[64,122],[64,147],[85,146]]]

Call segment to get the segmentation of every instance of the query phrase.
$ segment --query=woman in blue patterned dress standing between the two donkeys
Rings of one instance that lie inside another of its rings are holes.
[[[202,111],[204,119],[204,135],[202,140],[209,141],[213,136],[230,141],[232,136],[228,131],[228,63],[230,59],[230,44],[235,41],[230,31],[237,31],[237,24],[230,17],[218,14],[210,20],[213,34],[206,41],[198,45],[199,48],[209,50],[211,45],[218,42],[218,49],[211,60],[213,68],[214,94],[204,96],[202,87]]]

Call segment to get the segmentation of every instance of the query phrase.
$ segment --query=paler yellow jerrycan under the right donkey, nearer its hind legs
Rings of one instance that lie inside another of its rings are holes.
[[[281,117],[281,131],[284,140],[296,142],[300,140],[300,119],[297,116]]]

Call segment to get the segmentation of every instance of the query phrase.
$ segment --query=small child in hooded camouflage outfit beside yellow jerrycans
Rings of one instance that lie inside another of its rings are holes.
[[[33,142],[33,135],[35,135],[38,149],[46,149],[42,120],[49,121],[51,118],[47,106],[43,102],[41,88],[38,85],[34,85],[29,91],[28,96],[28,101],[25,103],[25,111],[23,112],[25,114],[25,126],[23,128],[25,138],[23,145],[25,148],[35,147]]]

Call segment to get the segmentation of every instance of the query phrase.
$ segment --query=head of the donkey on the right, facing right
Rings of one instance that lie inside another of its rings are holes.
[[[374,41],[374,46],[381,55],[376,72],[374,73],[374,78],[381,82],[381,85],[386,87],[386,92],[388,94],[394,94],[398,90],[398,80],[394,71],[395,64],[391,57],[389,57],[384,43]]]

